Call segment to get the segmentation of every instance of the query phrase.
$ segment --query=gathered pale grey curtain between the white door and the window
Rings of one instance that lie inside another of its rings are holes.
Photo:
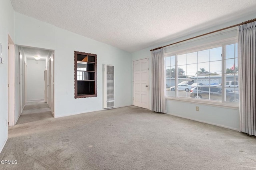
[[[152,51],[152,111],[166,113],[164,50]]]

